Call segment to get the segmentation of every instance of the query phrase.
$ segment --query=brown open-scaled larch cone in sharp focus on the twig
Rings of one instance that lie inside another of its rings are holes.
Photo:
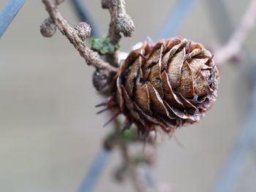
[[[121,63],[112,92],[129,123],[148,134],[198,122],[217,98],[211,53],[182,37],[145,42]]]

